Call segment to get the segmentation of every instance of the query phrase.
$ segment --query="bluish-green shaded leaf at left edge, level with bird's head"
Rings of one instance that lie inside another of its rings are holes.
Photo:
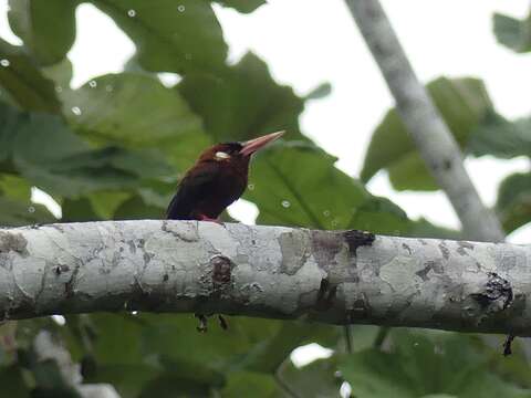
[[[156,155],[118,147],[91,149],[58,116],[19,112],[0,103],[2,158],[31,184],[74,197],[101,189],[136,187],[170,170]],[[138,167],[142,165],[142,167]]]

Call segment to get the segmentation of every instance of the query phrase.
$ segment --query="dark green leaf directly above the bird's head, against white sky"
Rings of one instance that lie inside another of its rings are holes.
[[[267,64],[252,53],[217,74],[186,75],[177,88],[202,117],[214,142],[246,140],[278,130],[288,132],[285,139],[305,139],[299,132],[302,98],[291,87],[278,85]]]

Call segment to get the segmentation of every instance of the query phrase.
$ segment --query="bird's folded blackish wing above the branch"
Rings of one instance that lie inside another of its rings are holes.
[[[219,175],[220,168],[216,163],[204,164],[201,167],[190,169],[180,181],[177,193],[166,211],[166,218],[194,220],[195,208],[211,193]]]

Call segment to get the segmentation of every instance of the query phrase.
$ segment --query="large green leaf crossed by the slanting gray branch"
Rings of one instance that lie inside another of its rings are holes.
[[[477,78],[439,77],[427,90],[460,145],[492,109],[485,85]],[[373,133],[362,180],[368,181],[381,169],[387,169],[395,189],[438,189],[396,109],[389,111]]]

